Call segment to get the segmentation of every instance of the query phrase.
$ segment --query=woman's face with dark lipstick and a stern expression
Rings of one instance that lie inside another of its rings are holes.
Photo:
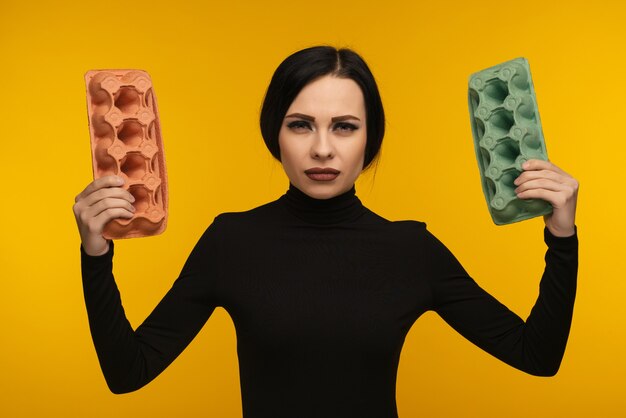
[[[315,199],[350,190],[363,170],[365,122],[363,93],[353,80],[327,75],[304,86],[278,135],[291,183]]]

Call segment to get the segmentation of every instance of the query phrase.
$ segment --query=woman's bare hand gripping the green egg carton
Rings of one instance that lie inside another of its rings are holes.
[[[522,168],[524,171],[514,182],[517,197],[549,202],[552,213],[546,215],[544,220],[552,235],[574,235],[578,181],[550,161],[528,160]]]

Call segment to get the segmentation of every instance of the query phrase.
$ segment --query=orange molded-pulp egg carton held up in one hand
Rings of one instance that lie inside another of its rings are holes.
[[[93,177],[118,175],[135,197],[135,215],[113,219],[103,236],[160,234],[167,224],[167,175],[152,80],[141,70],[92,70],[85,83]]]

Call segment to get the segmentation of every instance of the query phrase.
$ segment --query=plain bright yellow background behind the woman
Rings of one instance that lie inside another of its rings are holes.
[[[71,210],[91,180],[83,74],[145,69],[159,100],[168,229],[116,247],[116,277],[137,326],[215,215],[285,191],[260,137],[261,100],[283,58],[324,43],[366,58],[386,106],[380,165],[357,185],[363,202],[389,219],[426,221],[522,317],[543,268],[542,221],[492,224],[468,75],[528,58],[548,154],[581,183],[578,299],[559,374],[512,369],[427,313],[402,353],[400,417],[625,416],[625,21],[624,3],[608,0],[3,0],[0,416],[241,416],[235,334],[222,309],[147,387],[116,396],[105,386]]]

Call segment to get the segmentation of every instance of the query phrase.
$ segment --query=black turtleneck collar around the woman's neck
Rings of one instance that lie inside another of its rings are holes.
[[[354,221],[365,213],[366,209],[355,193],[352,186],[347,192],[330,199],[315,199],[289,184],[289,190],[280,200],[289,212],[305,222],[332,225]]]

